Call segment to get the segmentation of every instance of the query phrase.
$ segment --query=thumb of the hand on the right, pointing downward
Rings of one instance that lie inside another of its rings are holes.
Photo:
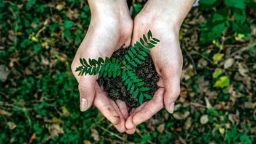
[[[169,113],[174,113],[175,101],[180,95],[180,68],[173,68],[172,71],[163,71],[164,82],[164,107]]]

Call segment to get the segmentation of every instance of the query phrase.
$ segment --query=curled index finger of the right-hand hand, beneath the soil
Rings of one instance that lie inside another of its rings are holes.
[[[137,126],[138,124],[147,121],[159,110],[161,110],[164,107],[162,99],[163,94],[163,88],[159,88],[158,90],[156,90],[153,99],[145,103],[145,105],[142,105],[142,107],[139,108],[140,110],[135,110],[134,114],[130,116],[132,118],[132,122],[130,122],[130,117],[127,119],[126,128],[131,129],[134,126]]]

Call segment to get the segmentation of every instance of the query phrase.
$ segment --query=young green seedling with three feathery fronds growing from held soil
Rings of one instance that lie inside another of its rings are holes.
[[[133,95],[134,98],[138,97],[140,104],[143,103],[143,98],[151,99],[151,95],[146,94],[150,88],[145,87],[145,82],[134,73],[133,68],[142,64],[142,61],[146,60],[150,49],[159,42],[158,39],[152,37],[152,33],[149,30],[147,36],[143,34],[143,38],[140,38],[140,42],[135,42],[134,47],[130,46],[127,51],[128,54],[124,55],[124,60],[118,58],[108,58],[103,60],[99,57],[98,60],[90,59],[88,62],[84,58],[80,58],[81,66],[76,68],[79,71],[79,76],[82,75],[95,75],[98,74],[98,78],[116,78],[122,76],[122,82],[127,87],[127,91]]]

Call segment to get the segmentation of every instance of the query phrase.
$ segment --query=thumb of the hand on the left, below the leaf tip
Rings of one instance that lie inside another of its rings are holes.
[[[86,111],[92,106],[95,96],[95,76],[81,76],[78,89],[80,94],[80,110]]]

